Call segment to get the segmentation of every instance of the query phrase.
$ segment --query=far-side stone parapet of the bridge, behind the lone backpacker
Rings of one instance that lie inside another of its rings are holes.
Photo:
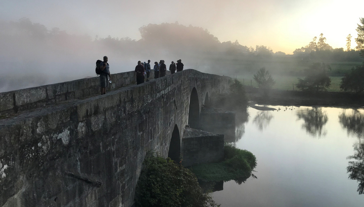
[[[112,74],[109,89],[134,84],[135,72]],[[82,99],[100,94],[100,78],[87,78],[0,93],[0,118],[7,114],[44,107],[66,100]]]

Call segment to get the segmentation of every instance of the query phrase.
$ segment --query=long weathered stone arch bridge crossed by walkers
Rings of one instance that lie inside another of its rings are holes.
[[[178,159],[186,125],[230,78],[134,72],[0,93],[0,206],[132,206],[148,151]]]

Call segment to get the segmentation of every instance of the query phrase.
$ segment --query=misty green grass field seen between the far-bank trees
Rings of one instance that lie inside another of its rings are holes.
[[[287,90],[292,91],[297,90],[296,84],[298,83],[298,78],[303,79],[304,77],[291,77],[291,76],[272,76],[272,78],[276,81],[276,84],[273,86],[273,89],[279,90]],[[253,87],[258,87],[256,82],[253,79],[253,76],[237,76],[237,79],[244,84],[245,86],[252,85]],[[340,83],[342,77],[330,77],[331,86],[328,91],[338,92],[340,91]]]

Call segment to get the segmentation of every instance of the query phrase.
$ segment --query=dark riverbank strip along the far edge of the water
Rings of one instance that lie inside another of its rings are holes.
[[[262,105],[282,106],[336,106],[354,107],[364,106],[364,95],[346,92],[305,92],[271,90],[264,93],[258,88],[245,86],[249,101]]]

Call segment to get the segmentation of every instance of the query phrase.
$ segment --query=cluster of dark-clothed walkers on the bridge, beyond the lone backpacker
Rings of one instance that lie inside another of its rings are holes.
[[[151,73],[151,65],[150,60],[148,60],[148,63],[142,61],[138,61],[138,65],[135,66],[135,73],[136,73],[136,84],[142,84],[144,83],[145,75],[147,75],[147,82],[149,81],[149,76]],[[176,71],[183,71],[184,64],[181,62],[181,60],[177,60],[177,64],[174,63],[174,61],[171,62],[169,65],[169,71],[171,74],[174,74]],[[167,65],[164,63],[164,60],[160,60],[158,62],[154,62],[154,78],[160,78],[164,77],[166,75],[167,71]]]

